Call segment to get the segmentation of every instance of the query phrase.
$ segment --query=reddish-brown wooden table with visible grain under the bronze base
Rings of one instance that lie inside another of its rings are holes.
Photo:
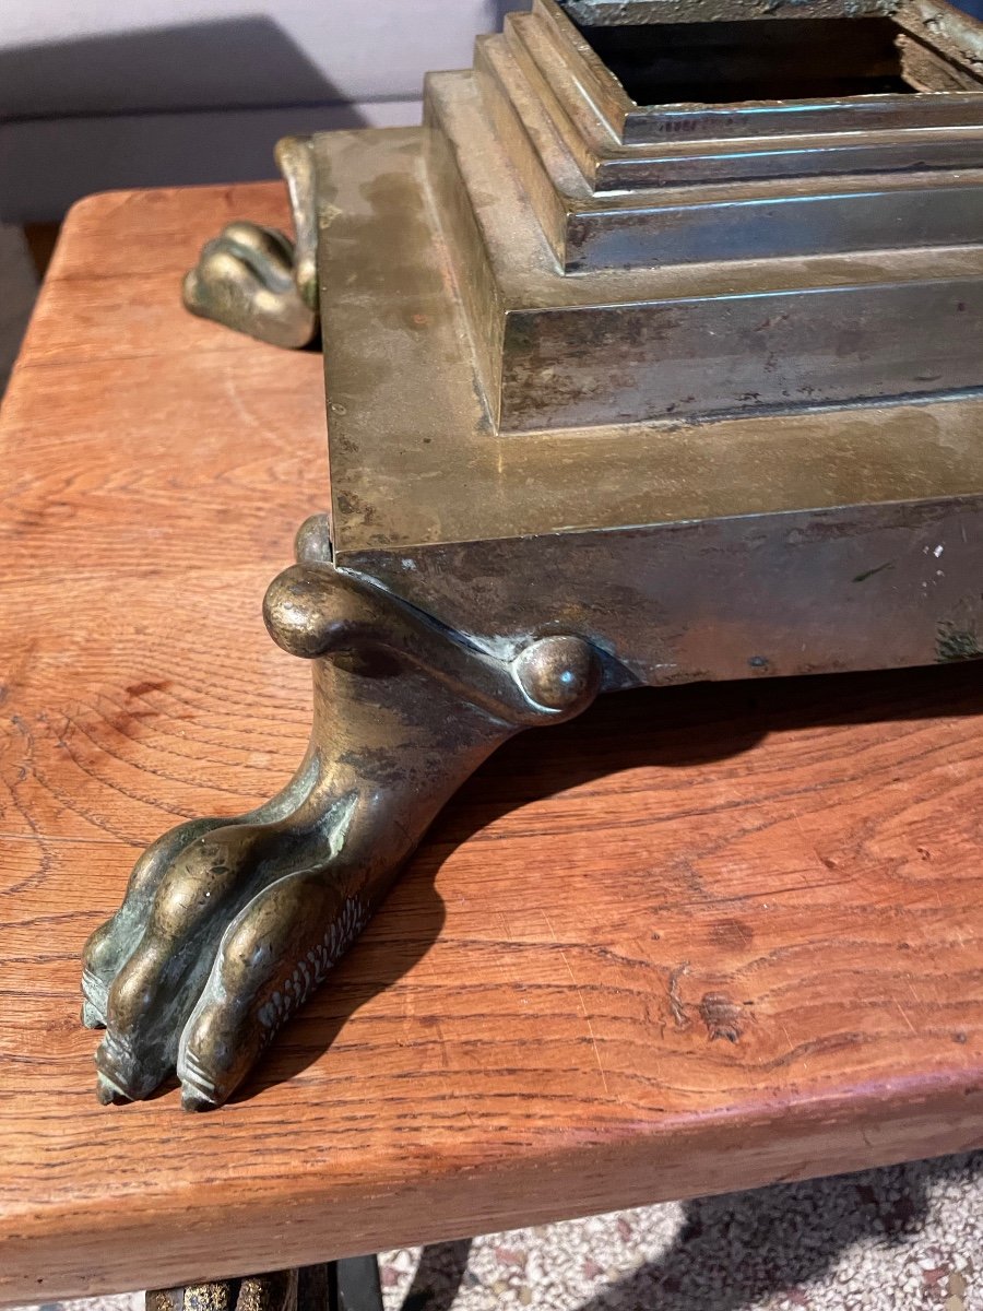
[[[0,1302],[242,1274],[983,1142],[983,686],[623,694],[512,742],[244,1097],[93,1096],[140,848],[298,762],[260,603],[321,366],[185,315],[279,186],[77,206],[4,402]]]

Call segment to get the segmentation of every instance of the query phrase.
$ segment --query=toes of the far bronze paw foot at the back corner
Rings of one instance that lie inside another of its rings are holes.
[[[185,277],[183,303],[273,346],[298,349],[317,336],[317,313],[298,288],[294,244],[256,223],[229,223],[207,243]]]

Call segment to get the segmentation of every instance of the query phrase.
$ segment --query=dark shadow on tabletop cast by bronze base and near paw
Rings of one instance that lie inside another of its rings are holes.
[[[248,1100],[299,1074],[346,1021],[396,983],[436,940],[444,905],[434,886],[444,860],[495,821],[640,767],[687,770],[750,751],[793,729],[983,713],[980,665],[645,688],[600,697],[578,720],[520,734],[438,817],[406,873],[322,990],[279,1034],[237,1095]],[[844,760],[844,770],[851,760]],[[480,895],[480,889],[476,889]]]

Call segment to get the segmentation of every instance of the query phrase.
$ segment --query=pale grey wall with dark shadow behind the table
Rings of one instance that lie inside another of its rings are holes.
[[[286,132],[413,123],[523,0],[0,4],[0,220],[128,186],[271,177]]]

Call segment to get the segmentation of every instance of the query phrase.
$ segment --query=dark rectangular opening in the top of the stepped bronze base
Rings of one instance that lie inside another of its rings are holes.
[[[890,18],[581,26],[637,105],[914,92]]]

